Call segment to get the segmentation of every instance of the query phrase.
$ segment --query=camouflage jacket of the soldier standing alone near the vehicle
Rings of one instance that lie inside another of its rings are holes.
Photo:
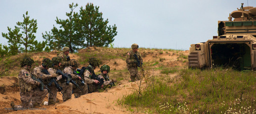
[[[140,62],[142,62],[142,56],[140,52],[134,52],[133,50],[130,50],[126,54],[126,66],[127,67],[137,67],[136,63],[134,61],[137,61],[136,58],[134,57],[134,54],[137,54],[138,59]]]

